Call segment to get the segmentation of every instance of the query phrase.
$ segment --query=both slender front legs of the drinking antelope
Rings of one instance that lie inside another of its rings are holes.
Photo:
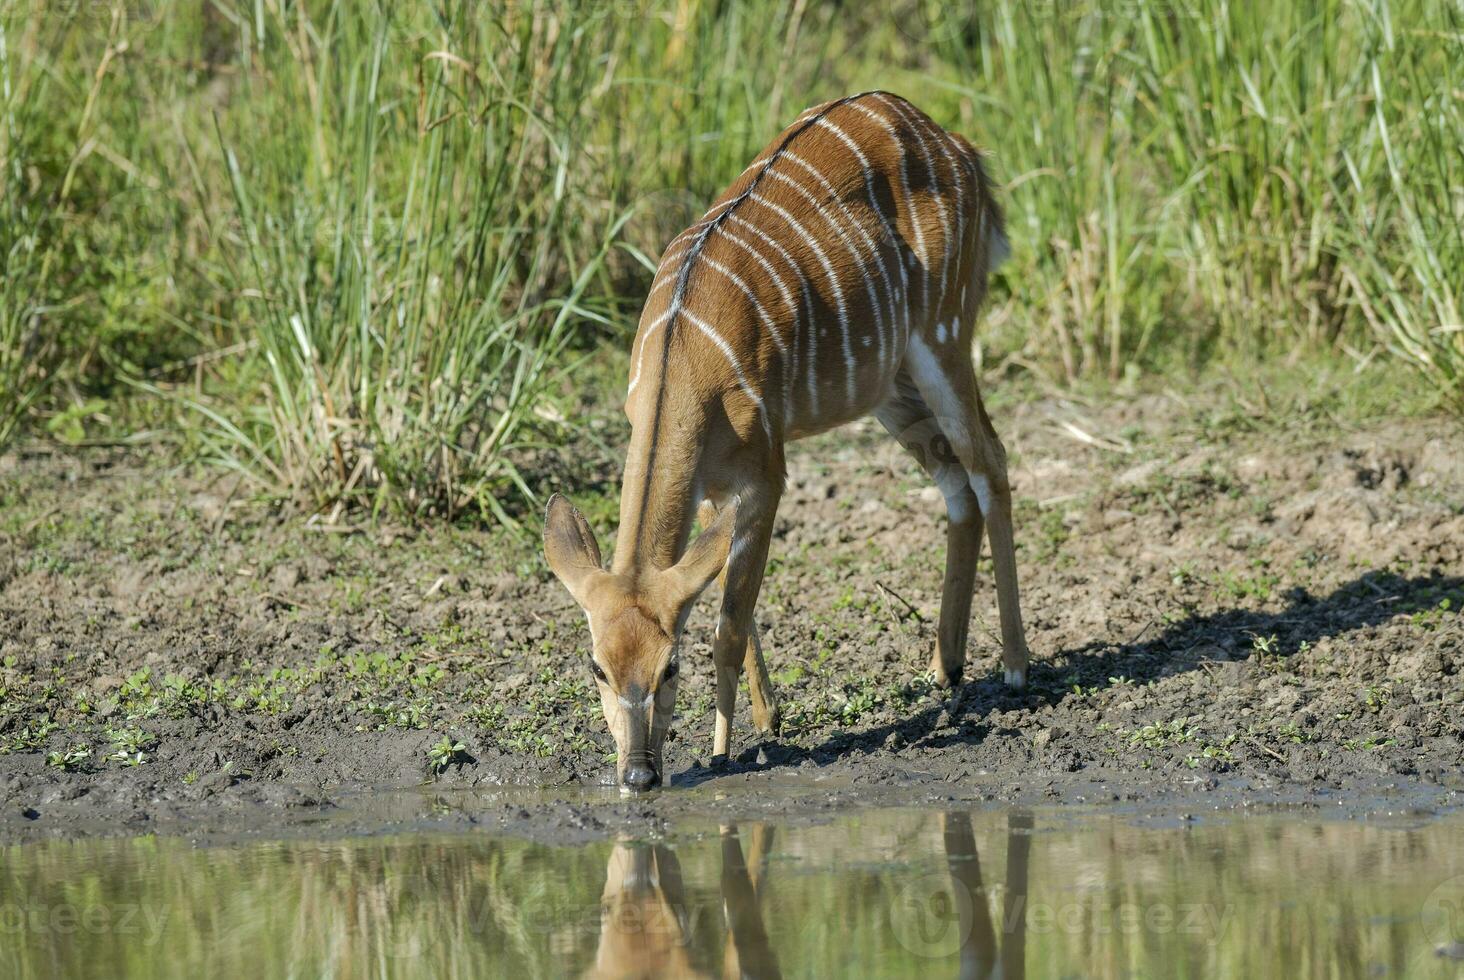
[[[758,728],[777,724],[777,703],[772,700],[772,684],[763,664],[763,647],[757,642],[754,609],[763,587],[767,546],[773,538],[773,517],[777,514],[777,491],[764,488],[745,491],[738,502],[736,530],[732,551],[722,571],[722,618],[712,640],[712,661],[717,671],[717,724],[712,743],[713,763],[726,762],[732,747],[732,715],[736,710],[736,678],[744,664],[750,667],[748,688],[752,715]],[[758,716],[761,715],[761,718]]]

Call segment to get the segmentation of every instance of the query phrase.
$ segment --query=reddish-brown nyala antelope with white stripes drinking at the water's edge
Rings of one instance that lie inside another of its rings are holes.
[[[870,413],[946,498],[937,683],[960,683],[985,527],[1006,683],[1025,684],[1006,453],[971,363],[987,277],[1006,250],[976,151],[887,92],[807,110],[666,246],[631,349],[609,571],[564,497],[545,519],[549,568],[590,621],[590,671],[625,790],[662,779],[681,633],[719,574],[713,760],[731,749],[742,669],[752,722],[777,732],[754,606],[783,447]]]

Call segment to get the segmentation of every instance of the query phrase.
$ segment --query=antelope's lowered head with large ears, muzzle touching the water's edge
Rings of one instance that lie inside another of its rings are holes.
[[[615,778],[624,791],[644,792],[662,782],[662,750],[681,675],[681,631],[697,596],[726,561],[735,510],[723,507],[669,568],[612,573],[600,567],[600,545],[584,516],[564,497],[549,498],[545,558],[590,621],[587,669],[615,738]]]

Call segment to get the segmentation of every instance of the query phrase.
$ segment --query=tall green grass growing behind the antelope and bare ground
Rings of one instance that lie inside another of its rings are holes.
[[[867,88],[1006,182],[987,371],[1321,352],[1460,404],[1461,40],[1432,0],[0,0],[0,445],[514,521],[665,240]]]

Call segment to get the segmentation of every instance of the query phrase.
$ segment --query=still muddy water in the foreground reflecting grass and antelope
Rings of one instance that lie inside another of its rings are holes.
[[[871,810],[0,850],[0,976],[1464,976],[1464,820]],[[1451,955],[1452,954],[1452,955]]]

